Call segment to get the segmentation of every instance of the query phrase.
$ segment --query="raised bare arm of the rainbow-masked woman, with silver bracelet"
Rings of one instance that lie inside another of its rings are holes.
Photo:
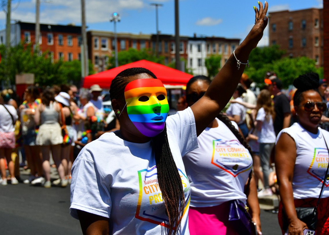
[[[235,50],[235,56],[233,54],[230,56],[215,76],[206,93],[191,106],[195,118],[197,135],[200,135],[208,124],[215,119],[237,88],[245,67],[243,64],[238,65],[237,59],[241,63],[246,63],[251,50],[257,46],[257,43],[263,36],[268,22],[266,16],[267,2],[265,2],[264,8],[263,4],[259,2],[259,8],[259,11],[257,8],[255,9],[256,20],[258,20],[247,37]]]

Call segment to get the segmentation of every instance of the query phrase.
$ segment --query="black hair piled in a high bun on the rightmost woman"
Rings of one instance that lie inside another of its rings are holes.
[[[295,88],[297,88],[293,96],[293,105],[298,106],[303,99],[302,93],[304,91],[313,90],[319,92],[317,90],[319,87],[319,75],[314,72],[300,75],[295,80],[293,80],[293,85]]]

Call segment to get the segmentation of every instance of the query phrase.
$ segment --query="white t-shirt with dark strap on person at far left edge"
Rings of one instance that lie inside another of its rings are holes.
[[[16,122],[18,115],[15,107],[13,105],[5,104],[8,111],[12,114],[14,118],[14,123]],[[13,119],[8,113],[3,105],[0,105],[0,131],[1,132],[13,132],[15,126],[13,125]]]

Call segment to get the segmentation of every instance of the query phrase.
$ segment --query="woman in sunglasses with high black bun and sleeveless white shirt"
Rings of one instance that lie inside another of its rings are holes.
[[[307,225],[297,218],[295,207],[316,206],[328,166],[325,141],[329,143],[329,132],[318,127],[327,108],[317,90],[319,76],[313,72],[301,75],[293,85],[297,88],[293,103],[298,122],[278,134],[275,168],[281,196],[278,218],[282,234],[288,231],[302,235]],[[329,234],[327,186],[328,178],[317,207],[316,235]]]

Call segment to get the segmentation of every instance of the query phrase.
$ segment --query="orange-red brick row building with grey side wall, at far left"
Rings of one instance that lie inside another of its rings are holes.
[[[11,25],[11,45],[35,44],[35,23],[16,22]],[[6,30],[0,31],[0,43],[5,44]],[[53,60],[81,58],[81,26],[40,24],[39,48]]]

